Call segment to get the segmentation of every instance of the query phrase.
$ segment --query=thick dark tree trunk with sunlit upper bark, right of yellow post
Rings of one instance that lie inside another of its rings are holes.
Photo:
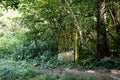
[[[97,15],[97,54],[96,58],[99,60],[105,56],[109,56],[109,48],[107,44],[106,35],[106,3],[105,0],[98,1],[98,15]]]

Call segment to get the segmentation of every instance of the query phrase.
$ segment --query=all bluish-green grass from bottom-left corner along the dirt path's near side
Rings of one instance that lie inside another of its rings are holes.
[[[44,70],[35,68],[34,64],[34,62],[0,59],[0,80],[103,80],[94,75],[78,76],[71,73],[50,75]]]

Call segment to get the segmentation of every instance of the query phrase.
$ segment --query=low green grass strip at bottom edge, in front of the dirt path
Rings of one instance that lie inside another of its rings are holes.
[[[74,75],[71,73],[66,73],[63,76],[58,75],[58,74],[54,75],[54,76],[49,75],[49,74],[44,74],[44,75],[37,76],[33,79],[30,79],[30,80],[103,80],[103,79],[96,77],[94,75],[92,75],[92,76],[85,76],[85,75],[77,76],[77,75]]]

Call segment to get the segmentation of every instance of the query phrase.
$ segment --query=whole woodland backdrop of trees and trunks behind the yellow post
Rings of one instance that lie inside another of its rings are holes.
[[[16,23],[13,33],[21,37],[18,39],[21,49],[17,47],[20,51],[13,53],[17,57],[19,54],[21,59],[40,57],[45,53],[55,56],[62,43],[65,47],[61,52],[74,49],[74,38],[67,39],[75,36],[74,32],[69,32],[74,29],[79,32],[77,45],[81,56],[90,54],[104,58],[119,53],[119,1],[8,0],[1,3],[1,10],[14,7],[21,14],[19,18],[10,19]],[[60,37],[63,32],[65,35]]]

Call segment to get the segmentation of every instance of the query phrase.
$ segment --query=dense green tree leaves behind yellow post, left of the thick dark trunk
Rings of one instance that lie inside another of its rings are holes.
[[[66,1],[70,5],[73,13],[67,6],[66,2],[60,0],[1,1],[5,6],[19,6],[17,10],[22,14],[22,16],[18,19],[13,19],[13,21],[15,20],[17,27],[16,25],[12,25],[13,27],[10,27],[13,30],[10,29],[9,31],[13,34],[7,36],[9,38],[6,39],[6,35],[3,33],[0,34],[5,38],[0,43],[0,45],[2,45],[0,46],[0,57],[3,57],[4,54],[12,54],[14,59],[22,60],[40,57],[48,52],[50,53],[49,56],[53,57],[58,53],[60,33],[62,31],[66,31],[65,33],[67,33],[67,29],[75,28],[74,26],[76,21],[83,35],[84,42],[82,44],[85,44],[81,47],[83,52],[89,53],[89,50],[91,52],[95,52],[95,27],[97,15],[97,8],[95,7],[96,1]],[[74,20],[73,14],[77,19],[76,21]],[[110,16],[107,17],[109,19],[107,22],[107,25],[109,26],[108,28],[111,28]],[[4,26],[6,26],[6,24]],[[62,40],[64,40],[64,38],[65,37],[62,37]],[[80,39],[79,41],[81,42]],[[74,45],[74,42],[66,41],[65,46],[71,47],[68,45],[69,42]],[[109,42],[112,43],[113,41]],[[83,55],[84,58],[86,56],[88,55]],[[83,65],[84,64],[85,63],[83,61]]]

